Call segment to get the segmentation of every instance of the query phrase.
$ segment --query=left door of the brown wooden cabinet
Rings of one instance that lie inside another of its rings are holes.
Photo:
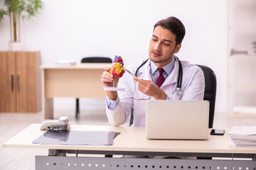
[[[0,52],[0,112],[16,112],[15,52]]]

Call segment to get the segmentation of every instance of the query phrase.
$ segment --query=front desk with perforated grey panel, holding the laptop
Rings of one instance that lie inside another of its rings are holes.
[[[121,132],[112,146],[36,145],[31,141],[43,134],[40,124],[30,125],[4,143],[4,147],[49,149],[49,156],[36,156],[36,170],[41,169],[256,169],[256,147],[232,147],[228,135],[208,140],[147,140],[145,128],[72,125],[71,130]],[[210,133],[210,131],[209,131]],[[65,154],[76,154],[66,157]],[[128,159],[79,157],[79,154],[131,154],[190,157],[245,157],[252,160],[210,159]]]

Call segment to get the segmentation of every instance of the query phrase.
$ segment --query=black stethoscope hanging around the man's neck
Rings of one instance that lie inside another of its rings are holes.
[[[176,94],[177,96],[181,96],[181,84],[182,84],[182,65],[181,65],[181,61],[178,59],[178,57],[174,56],[176,58],[176,60],[178,61],[178,79],[177,79],[177,87],[176,87],[176,91],[174,91],[174,94]],[[135,76],[137,77],[138,71],[139,69],[144,66],[144,64],[146,64],[146,62],[149,60],[149,58],[147,60],[145,60],[144,62],[142,62],[142,64],[139,65],[139,67],[137,68],[136,72],[135,72]]]

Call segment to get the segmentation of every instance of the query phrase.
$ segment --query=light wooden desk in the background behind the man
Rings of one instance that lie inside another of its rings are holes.
[[[53,119],[53,98],[106,98],[100,81],[104,67],[110,64],[90,63],[74,66],[48,64],[42,69],[43,119]],[[75,106],[74,106],[75,107]]]

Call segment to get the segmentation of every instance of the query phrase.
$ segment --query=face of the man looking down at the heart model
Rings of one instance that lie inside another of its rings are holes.
[[[170,30],[164,29],[161,26],[156,26],[154,33],[149,43],[149,57],[158,67],[164,67],[169,64],[174,58],[174,53],[177,53],[181,44],[176,45],[176,35]]]

